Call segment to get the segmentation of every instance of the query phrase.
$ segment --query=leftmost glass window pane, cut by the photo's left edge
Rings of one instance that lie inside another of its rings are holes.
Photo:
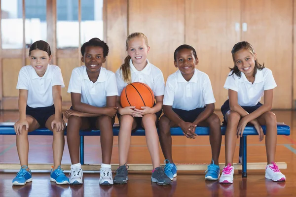
[[[1,0],[2,49],[23,48],[22,0]]]

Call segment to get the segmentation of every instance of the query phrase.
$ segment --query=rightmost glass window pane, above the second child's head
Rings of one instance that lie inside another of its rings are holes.
[[[81,45],[93,37],[104,39],[103,0],[81,0]]]

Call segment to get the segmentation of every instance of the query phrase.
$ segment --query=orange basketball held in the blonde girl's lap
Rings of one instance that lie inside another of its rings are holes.
[[[136,106],[136,109],[142,109],[144,106],[153,107],[154,94],[145,83],[134,82],[122,90],[120,102],[122,107]]]

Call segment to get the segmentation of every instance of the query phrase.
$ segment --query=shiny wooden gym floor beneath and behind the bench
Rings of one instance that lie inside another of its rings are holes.
[[[33,182],[25,186],[12,186],[16,170],[0,171],[0,197],[293,197],[296,196],[296,111],[274,111],[278,122],[291,127],[290,136],[278,136],[276,162],[286,162],[287,169],[281,170],[286,182],[276,183],[265,180],[264,170],[248,170],[248,177],[242,179],[235,171],[231,185],[221,185],[218,181],[205,181],[204,171],[178,171],[177,178],[169,186],[158,186],[150,182],[151,172],[130,172],[126,185],[99,186],[99,173],[84,173],[81,186],[56,185],[49,180],[49,171],[34,172]],[[220,111],[216,111],[222,120]],[[0,122],[15,122],[18,112],[0,112]],[[85,164],[101,164],[100,137],[85,137]],[[53,163],[52,136],[30,136],[29,163]],[[238,145],[234,163],[238,162]],[[225,162],[224,137],[220,163]],[[161,150],[160,150],[161,151]],[[258,136],[248,137],[248,163],[266,162],[264,142]],[[163,156],[161,163],[163,164]],[[185,136],[173,136],[173,157],[178,164],[209,164],[211,147],[209,136],[199,136],[195,140]],[[150,156],[143,136],[132,137],[129,164],[150,164]],[[15,136],[0,135],[0,163],[18,164]],[[70,156],[65,143],[62,164],[70,164]],[[112,164],[118,164],[117,136],[114,137]],[[69,174],[65,172],[66,175]]]

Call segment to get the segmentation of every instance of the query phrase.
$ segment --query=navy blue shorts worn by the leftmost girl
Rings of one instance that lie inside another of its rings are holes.
[[[54,105],[49,107],[26,107],[26,115],[30,115],[37,120],[40,127],[45,127],[47,119],[55,114]]]

